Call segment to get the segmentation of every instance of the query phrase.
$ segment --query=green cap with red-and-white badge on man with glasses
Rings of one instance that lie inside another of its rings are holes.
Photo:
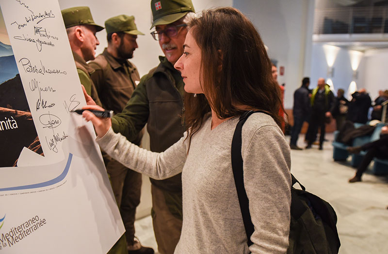
[[[152,26],[167,25],[189,12],[194,12],[191,0],[151,0]]]

